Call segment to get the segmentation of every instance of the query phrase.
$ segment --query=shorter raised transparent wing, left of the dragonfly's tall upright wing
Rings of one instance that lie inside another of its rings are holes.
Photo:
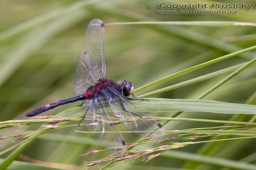
[[[73,93],[76,96],[83,94],[91,85],[95,85],[95,83],[89,74],[84,55],[81,53],[76,64],[76,80],[73,86]]]

